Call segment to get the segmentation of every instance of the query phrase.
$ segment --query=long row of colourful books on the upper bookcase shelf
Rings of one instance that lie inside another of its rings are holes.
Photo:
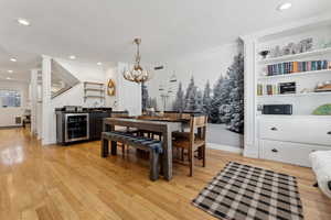
[[[331,61],[286,62],[267,66],[267,76],[331,69]]]

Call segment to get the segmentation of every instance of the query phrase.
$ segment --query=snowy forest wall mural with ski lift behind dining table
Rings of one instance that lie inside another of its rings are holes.
[[[239,44],[236,44],[241,47]],[[209,116],[207,141],[218,145],[242,147],[244,132],[244,57],[241,48],[224,48],[216,53],[207,54],[202,65],[215,66],[205,68],[196,64],[195,57],[188,63],[193,63],[200,73],[186,75],[183,77],[178,67],[166,80],[168,86],[158,86],[152,89],[151,85],[158,84],[157,80],[149,85],[142,85],[142,109],[154,108],[156,110],[170,110],[178,112],[204,112]],[[232,50],[228,52],[228,50]],[[217,69],[215,61],[217,55],[232,55],[228,62],[222,63],[221,73]],[[201,56],[206,56],[205,54]],[[182,62],[181,65],[185,64]],[[227,67],[224,67],[227,65]],[[172,66],[171,66],[172,67]],[[175,67],[174,67],[175,68]],[[188,70],[190,72],[190,70]],[[217,73],[218,72],[218,73]],[[216,75],[216,76],[215,76]],[[179,77],[180,76],[180,77]],[[207,77],[211,76],[211,77]],[[180,78],[180,79],[177,79]],[[197,80],[196,80],[197,78]],[[160,80],[160,79],[159,79]],[[185,88],[184,88],[184,85]],[[151,88],[151,89],[150,89]]]

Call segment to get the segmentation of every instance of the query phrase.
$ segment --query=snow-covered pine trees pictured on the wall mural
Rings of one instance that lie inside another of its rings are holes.
[[[224,123],[233,132],[244,132],[244,58],[242,54],[234,57],[225,76],[221,75],[213,90],[210,81],[205,84],[203,95],[191,77],[186,92],[182,84],[173,103],[174,111],[205,112],[210,123]]]

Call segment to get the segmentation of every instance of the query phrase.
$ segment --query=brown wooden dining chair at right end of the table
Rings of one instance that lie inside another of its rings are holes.
[[[192,114],[190,117],[190,131],[175,132],[172,141],[173,147],[188,151],[190,176],[193,176],[194,152],[197,151],[202,158],[202,166],[205,167],[205,144],[206,144],[207,117],[204,114]]]

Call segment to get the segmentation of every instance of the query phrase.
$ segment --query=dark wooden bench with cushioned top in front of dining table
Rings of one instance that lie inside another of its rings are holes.
[[[159,178],[159,156],[162,154],[162,142],[145,136],[136,136],[131,133],[111,131],[102,134],[102,157],[107,157],[109,153],[109,143],[111,142],[111,155],[117,154],[117,142],[135,146],[150,152],[150,179]]]

